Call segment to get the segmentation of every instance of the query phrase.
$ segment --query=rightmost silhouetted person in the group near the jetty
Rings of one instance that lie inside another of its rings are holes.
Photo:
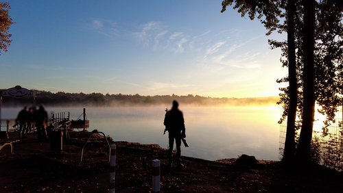
[[[47,126],[47,112],[45,111],[43,105],[39,106],[39,109],[34,113],[34,119],[36,122],[37,138],[38,140],[47,138],[47,133],[45,127]]]

